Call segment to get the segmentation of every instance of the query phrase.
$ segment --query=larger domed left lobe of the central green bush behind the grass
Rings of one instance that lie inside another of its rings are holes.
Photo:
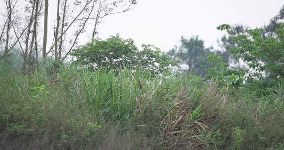
[[[94,39],[92,42],[73,50],[72,56],[77,61],[91,69],[125,67],[127,63],[133,65],[137,47],[132,39],[122,39],[118,35],[106,40]]]

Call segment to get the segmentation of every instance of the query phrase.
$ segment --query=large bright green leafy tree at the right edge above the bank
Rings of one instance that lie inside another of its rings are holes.
[[[245,85],[246,90],[253,90],[258,96],[270,94],[271,89],[278,88],[276,83],[281,82],[284,75],[283,21],[284,6],[278,15],[270,20],[269,25],[261,29],[251,30],[243,25],[231,27],[227,24],[217,27],[218,30],[226,30],[229,35],[224,36],[219,43],[221,48],[225,49],[225,52],[221,53],[222,57],[227,55],[228,60],[242,59],[249,69],[242,69],[238,65],[239,67],[218,72],[216,67],[222,67],[222,63],[217,62],[215,68],[211,68],[210,75],[227,79],[235,87],[242,85],[247,78],[249,84]],[[208,58],[211,62],[220,61],[213,56]],[[228,62],[236,62],[235,60]]]

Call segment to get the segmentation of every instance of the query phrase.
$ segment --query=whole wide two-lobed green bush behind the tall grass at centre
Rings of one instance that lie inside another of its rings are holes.
[[[116,68],[140,68],[144,72],[160,74],[177,66],[171,58],[163,55],[159,48],[142,44],[139,51],[132,39],[123,39],[119,35],[106,40],[94,39],[71,52],[81,66],[92,70]]]

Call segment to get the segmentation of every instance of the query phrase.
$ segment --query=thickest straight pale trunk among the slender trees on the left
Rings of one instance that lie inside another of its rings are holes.
[[[47,20],[48,20],[48,0],[44,0],[44,27],[43,27],[43,45],[42,45],[42,58],[43,64],[46,65],[46,43],[47,43]]]

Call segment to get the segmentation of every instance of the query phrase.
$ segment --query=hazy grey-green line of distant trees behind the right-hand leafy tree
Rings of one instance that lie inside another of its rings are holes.
[[[267,38],[276,38],[279,36],[277,34],[277,29],[281,28],[281,23],[284,22],[284,6],[282,6],[279,13],[273,17],[270,20],[270,23],[268,25],[264,25],[261,29],[262,32],[261,38],[267,39]],[[234,40],[234,37],[238,37],[241,35],[249,36],[250,27],[236,24],[232,25],[230,27],[229,35],[223,36],[220,40],[217,40],[218,42],[218,48],[213,47],[205,47],[204,41],[200,39],[198,36],[193,36],[188,39],[181,37],[180,39],[180,45],[176,45],[173,49],[166,52],[167,55],[169,55],[171,58],[173,58],[177,63],[179,63],[182,66],[182,71],[186,74],[196,74],[196,75],[208,75],[209,70],[207,68],[212,68],[212,64],[210,63],[210,60],[207,59],[208,56],[214,54],[221,56],[222,62],[229,64],[230,66],[235,66],[238,68],[246,68],[245,64],[249,65],[249,61],[247,59],[244,59],[244,57],[248,58],[250,57],[249,52],[243,52],[240,53],[234,52],[233,49],[241,48],[242,45],[237,40]],[[250,35],[251,36],[251,35]],[[280,50],[280,49],[279,49]],[[275,51],[268,51],[264,54],[268,53],[276,53]],[[276,55],[272,56],[269,55],[269,57],[277,57]],[[283,55],[281,55],[283,57]],[[259,58],[253,58],[255,59],[255,63],[260,63],[259,61],[262,61],[261,63],[267,64],[268,61],[272,61],[271,59],[267,60],[260,60]],[[274,63],[279,62],[277,60],[272,61]],[[279,67],[279,66],[278,66]],[[252,68],[251,68],[252,69]],[[255,68],[254,68],[255,69]],[[266,75],[272,75],[271,70],[263,70]]]

